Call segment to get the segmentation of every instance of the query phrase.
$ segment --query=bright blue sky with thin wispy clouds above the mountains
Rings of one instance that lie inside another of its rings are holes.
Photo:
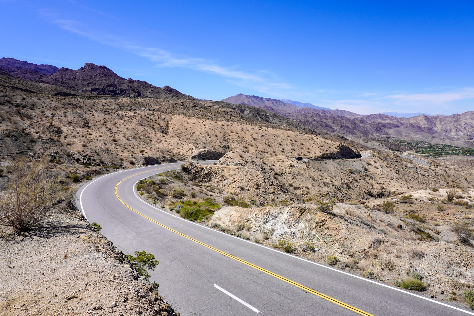
[[[0,0],[0,57],[220,100],[360,114],[474,110],[474,1]]]

